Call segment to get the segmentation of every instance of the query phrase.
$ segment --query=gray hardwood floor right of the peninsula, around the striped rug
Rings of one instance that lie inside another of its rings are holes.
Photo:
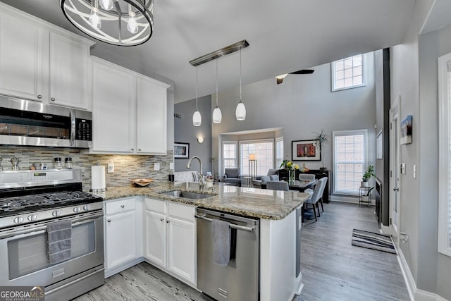
[[[352,229],[378,233],[374,207],[331,202],[301,233],[304,290],[294,300],[409,300],[395,254],[351,245]]]

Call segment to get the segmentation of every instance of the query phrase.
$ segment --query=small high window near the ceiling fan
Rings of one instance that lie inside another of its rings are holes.
[[[334,61],[332,66],[332,91],[366,85],[365,59],[363,54]]]

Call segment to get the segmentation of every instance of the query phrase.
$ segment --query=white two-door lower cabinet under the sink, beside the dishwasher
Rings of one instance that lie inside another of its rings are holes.
[[[144,201],[144,258],[187,283],[196,283],[195,207]]]

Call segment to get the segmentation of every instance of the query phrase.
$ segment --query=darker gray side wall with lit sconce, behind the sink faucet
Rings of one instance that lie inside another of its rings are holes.
[[[180,102],[174,105],[174,113],[179,113],[182,118],[174,118],[174,141],[190,143],[190,157],[199,156],[202,160],[202,169],[205,173],[211,170],[211,103],[210,97],[200,97],[197,107],[202,115],[202,125],[192,125],[192,114],[196,111],[196,99]],[[204,137],[204,142],[199,144],[197,137]],[[188,159],[175,159],[174,171],[188,171],[186,168]],[[198,171],[199,163],[194,161],[191,168]]]

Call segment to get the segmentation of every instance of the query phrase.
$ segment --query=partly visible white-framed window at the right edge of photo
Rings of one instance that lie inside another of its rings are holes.
[[[438,252],[451,257],[451,54],[438,58]]]

